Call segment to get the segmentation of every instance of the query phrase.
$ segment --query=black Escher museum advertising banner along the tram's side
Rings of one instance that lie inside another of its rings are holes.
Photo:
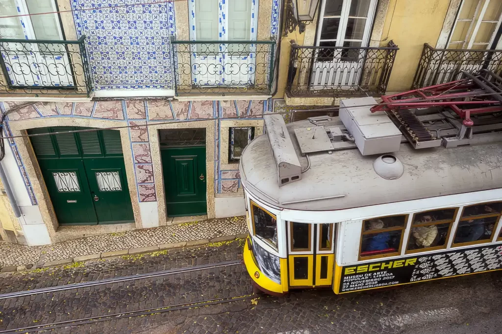
[[[342,267],[339,293],[502,269],[502,245]]]

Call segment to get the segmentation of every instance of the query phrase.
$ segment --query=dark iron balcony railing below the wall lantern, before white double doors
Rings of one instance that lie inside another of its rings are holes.
[[[382,95],[399,48],[305,47],[293,45],[289,96]]]

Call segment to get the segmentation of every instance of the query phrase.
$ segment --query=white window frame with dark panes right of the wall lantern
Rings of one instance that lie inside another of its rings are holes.
[[[321,15],[319,16],[319,24],[317,28],[317,38],[316,38],[316,46],[319,46],[321,42],[336,42],[336,47],[343,47],[344,42],[361,42],[361,48],[365,48],[369,44],[370,32],[373,27],[374,14],[376,10],[377,0],[370,0],[370,5],[368,9],[367,17],[356,17],[349,16],[350,5],[352,1],[356,0],[343,0],[341,14],[339,16],[324,16],[324,12],[326,10],[326,1],[322,0],[321,4]],[[324,19],[340,19],[340,25],[338,26],[338,33],[336,36],[336,40],[321,40],[321,31],[323,27]],[[362,35],[362,40],[354,40],[354,39],[344,39],[345,33],[347,31],[347,23],[348,19],[365,19],[366,25],[364,26],[364,32]]]

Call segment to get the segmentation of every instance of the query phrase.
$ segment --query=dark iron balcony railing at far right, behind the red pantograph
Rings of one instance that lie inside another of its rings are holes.
[[[461,71],[488,70],[502,73],[502,50],[434,49],[424,44],[412,89],[439,85],[460,79]]]

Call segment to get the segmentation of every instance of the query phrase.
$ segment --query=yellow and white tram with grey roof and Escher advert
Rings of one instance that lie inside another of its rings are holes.
[[[339,117],[288,125],[264,117],[239,165],[244,263],[259,289],[345,293],[502,269],[502,132],[459,137],[455,115],[416,110],[439,129],[421,148],[375,103],[343,100]]]

